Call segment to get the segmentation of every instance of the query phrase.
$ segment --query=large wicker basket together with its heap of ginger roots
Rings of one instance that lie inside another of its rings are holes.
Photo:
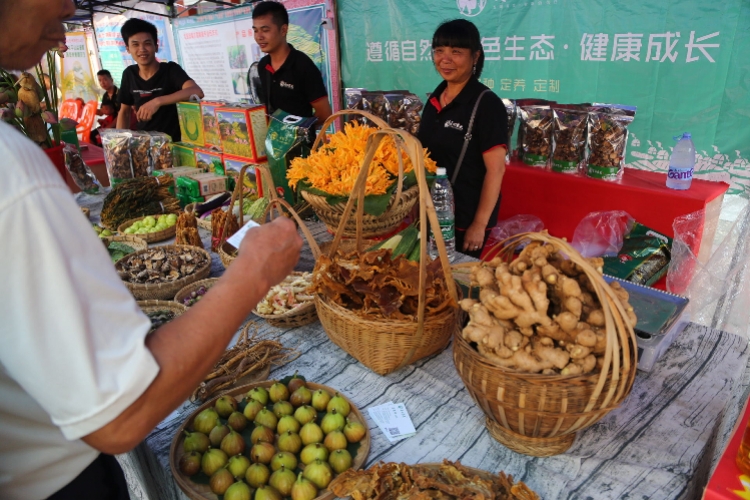
[[[523,244],[525,248],[513,259]],[[525,233],[471,269],[453,359],[490,434],[526,455],[563,453],[633,386],[636,317],[601,259]]]

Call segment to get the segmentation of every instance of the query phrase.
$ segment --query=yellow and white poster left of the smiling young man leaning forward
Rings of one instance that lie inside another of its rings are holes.
[[[99,99],[99,86],[89,62],[86,34],[72,31],[65,34],[68,51],[61,61],[60,90],[63,99],[80,97],[85,102]]]

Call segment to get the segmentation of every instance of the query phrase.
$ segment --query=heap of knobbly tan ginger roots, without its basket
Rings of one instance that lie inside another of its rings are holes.
[[[599,272],[602,259],[589,259]],[[493,363],[521,372],[580,375],[599,370],[607,340],[604,312],[588,276],[552,245],[532,242],[510,264],[499,258],[471,273],[479,301],[463,299],[469,313],[463,338]],[[610,285],[625,321],[636,317],[628,293]]]

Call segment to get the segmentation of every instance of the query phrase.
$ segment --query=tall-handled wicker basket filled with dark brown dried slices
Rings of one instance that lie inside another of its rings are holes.
[[[440,258],[430,260],[421,245],[418,261],[390,249],[365,251],[363,206],[370,162],[380,140],[388,137],[414,162],[423,221],[420,241],[427,241],[428,225],[439,227],[427,189],[424,156],[419,141],[408,133],[380,130],[371,136],[352,196],[336,236],[313,272],[315,305],[323,329],[336,345],[374,372],[385,375],[444,349],[458,329],[458,291],[450,271],[440,231],[435,232]],[[342,237],[356,202],[356,240],[342,249]]]

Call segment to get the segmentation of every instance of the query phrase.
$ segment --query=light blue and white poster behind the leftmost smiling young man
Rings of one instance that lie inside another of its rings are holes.
[[[164,5],[152,4],[150,2],[138,3],[139,9],[147,9],[152,12],[166,14],[167,9]],[[130,18],[143,19],[156,26],[156,32],[159,36],[159,50],[156,53],[156,59],[159,61],[175,61],[174,42],[172,41],[172,28],[168,17],[161,16],[157,13],[146,14],[144,12],[125,10],[122,14],[94,14],[94,32],[96,41],[99,46],[99,58],[102,62],[102,69],[109,70],[112,73],[112,79],[115,85],[120,86],[123,70],[135,64],[133,58],[125,50],[125,42],[122,40],[120,28]]]

